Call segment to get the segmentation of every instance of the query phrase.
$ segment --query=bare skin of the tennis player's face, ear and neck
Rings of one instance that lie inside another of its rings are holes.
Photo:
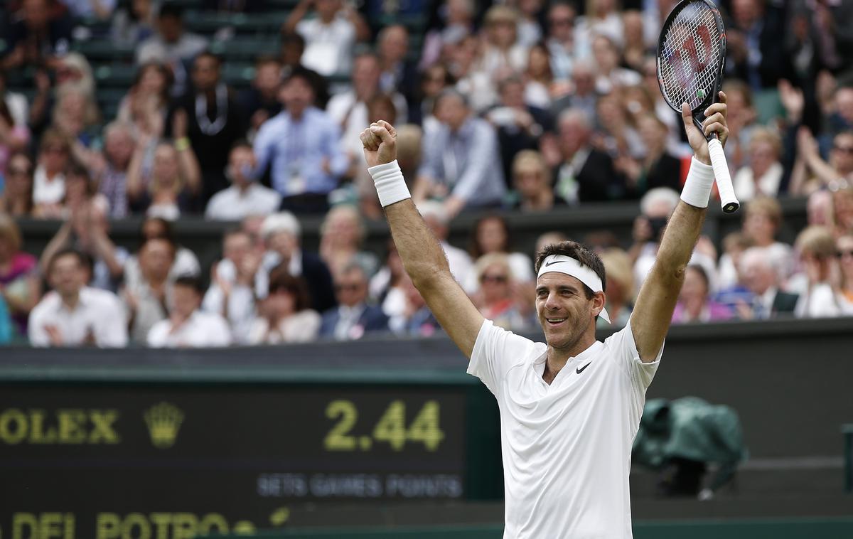
[[[551,363],[577,356],[595,342],[595,316],[604,309],[603,292],[587,299],[583,283],[556,271],[537,279],[536,311],[548,343],[548,370]],[[562,358],[562,360],[560,360]]]

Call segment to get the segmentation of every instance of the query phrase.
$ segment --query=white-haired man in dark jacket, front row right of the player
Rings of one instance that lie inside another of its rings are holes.
[[[735,312],[742,320],[765,320],[777,316],[793,316],[797,294],[779,289],[779,260],[762,247],[751,247],[740,255],[740,279],[752,293],[750,304],[741,302]]]

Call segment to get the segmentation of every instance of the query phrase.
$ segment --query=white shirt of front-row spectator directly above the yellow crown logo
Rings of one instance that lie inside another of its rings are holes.
[[[196,310],[175,331],[172,331],[171,320],[166,318],[154,324],[148,332],[148,346],[152,348],[204,348],[230,344],[228,322],[216,313],[201,310]]]

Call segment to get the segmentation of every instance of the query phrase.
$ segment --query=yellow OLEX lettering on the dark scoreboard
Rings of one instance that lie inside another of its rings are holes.
[[[16,445],[113,444],[117,409],[5,409],[0,412],[0,443]]]

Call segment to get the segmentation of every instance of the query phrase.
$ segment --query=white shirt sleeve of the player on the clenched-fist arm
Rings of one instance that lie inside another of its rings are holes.
[[[496,397],[510,368],[534,353],[535,343],[485,320],[477,334],[468,374],[483,381]]]

